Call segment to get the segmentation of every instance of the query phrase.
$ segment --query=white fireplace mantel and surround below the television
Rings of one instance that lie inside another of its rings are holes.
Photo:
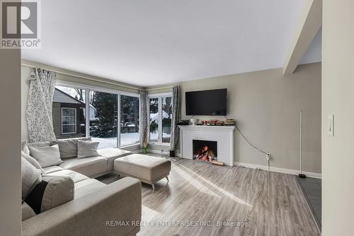
[[[235,126],[180,125],[182,158],[193,159],[193,139],[217,141],[217,160],[234,165]]]

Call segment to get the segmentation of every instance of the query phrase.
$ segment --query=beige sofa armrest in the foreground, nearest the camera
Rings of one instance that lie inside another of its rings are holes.
[[[142,217],[142,184],[125,177],[22,222],[22,235],[135,235]],[[119,222],[127,222],[119,225]],[[113,222],[113,223],[112,223]]]

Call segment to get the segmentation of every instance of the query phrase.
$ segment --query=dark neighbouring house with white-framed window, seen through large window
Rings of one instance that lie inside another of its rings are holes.
[[[96,113],[94,107],[92,111],[90,109],[90,113],[93,112]],[[85,103],[57,88],[53,95],[52,117],[57,138],[86,136]]]

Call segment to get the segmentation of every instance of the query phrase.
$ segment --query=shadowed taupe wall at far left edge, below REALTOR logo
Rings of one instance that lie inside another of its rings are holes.
[[[0,235],[21,235],[21,52],[0,49]]]

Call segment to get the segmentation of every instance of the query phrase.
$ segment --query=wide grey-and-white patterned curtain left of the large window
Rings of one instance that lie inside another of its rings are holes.
[[[57,74],[53,71],[33,69],[28,78],[30,87],[25,117],[30,142],[55,139],[52,124],[52,101]]]

